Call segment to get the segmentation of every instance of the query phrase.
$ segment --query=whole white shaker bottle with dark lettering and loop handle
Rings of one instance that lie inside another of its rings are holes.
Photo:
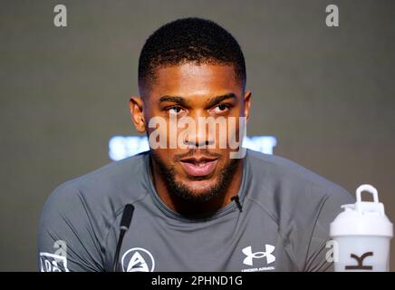
[[[370,192],[373,201],[362,201],[361,192]],[[377,189],[363,184],[356,190],[357,202],[343,205],[331,224],[335,272],[388,272],[393,227],[379,202]]]

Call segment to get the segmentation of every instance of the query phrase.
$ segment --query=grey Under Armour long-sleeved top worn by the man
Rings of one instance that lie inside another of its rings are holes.
[[[332,269],[325,260],[329,224],[342,204],[354,202],[345,189],[290,160],[247,150],[238,196],[241,212],[232,202],[200,217],[182,216],[157,195],[149,151],[112,162],[48,198],[38,269],[111,271],[128,203],[135,211],[120,250],[123,271]]]

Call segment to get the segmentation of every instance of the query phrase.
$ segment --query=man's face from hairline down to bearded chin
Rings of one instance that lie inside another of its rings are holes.
[[[238,149],[229,148],[229,133],[238,140],[239,117],[248,117],[250,102],[250,92],[243,92],[234,67],[185,63],[159,68],[156,79],[149,81],[143,94],[144,130],[148,135],[153,131],[164,133],[162,137],[167,140],[166,148],[151,153],[169,191],[188,200],[207,201],[225,190],[239,161],[230,158],[230,152]],[[153,117],[160,117],[166,126],[149,128]],[[196,121],[196,128],[179,139],[188,127],[174,125],[185,117]],[[229,132],[229,126],[222,132],[224,127],[220,126],[215,126],[215,131],[209,131],[208,125],[199,127],[199,118],[201,121],[207,117],[212,117],[211,120],[221,117],[226,125],[234,118],[235,130]],[[173,144],[177,140],[177,148],[169,148],[171,138]],[[226,146],[221,148],[220,139],[224,138]],[[179,140],[185,148],[180,148]]]

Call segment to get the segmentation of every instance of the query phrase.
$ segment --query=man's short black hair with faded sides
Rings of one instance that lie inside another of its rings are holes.
[[[149,36],[139,59],[139,86],[155,79],[155,69],[183,63],[231,64],[246,86],[246,62],[235,37],[213,21],[196,17],[164,24]]]

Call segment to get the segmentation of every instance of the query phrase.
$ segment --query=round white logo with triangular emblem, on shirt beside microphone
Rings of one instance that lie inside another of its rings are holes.
[[[153,272],[154,257],[142,247],[130,248],[121,259],[123,272]]]

